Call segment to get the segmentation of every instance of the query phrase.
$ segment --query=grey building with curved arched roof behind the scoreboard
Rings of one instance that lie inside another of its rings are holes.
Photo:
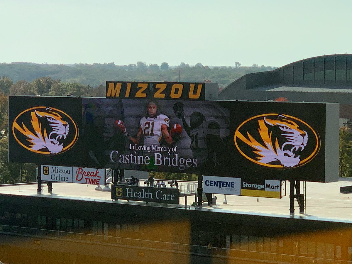
[[[322,94],[316,97],[309,92]],[[351,92],[352,54],[334,54],[302,59],[272,71],[246,74],[222,90],[219,99],[287,97],[289,101],[352,103],[352,98],[346,98]],[[329,98],[331,93],[339,96]]]

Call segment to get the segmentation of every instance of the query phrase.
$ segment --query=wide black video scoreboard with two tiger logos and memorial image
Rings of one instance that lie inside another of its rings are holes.
[[[154,97],[10,96],[9,161],[338,180],[338,104]]]

